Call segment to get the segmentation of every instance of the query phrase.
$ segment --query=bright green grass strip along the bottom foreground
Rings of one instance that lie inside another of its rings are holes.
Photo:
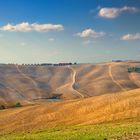
[[[132,132],[140,132],[140,122],[55,127],[30,133],[0,135],[0,140],[103,140]]]

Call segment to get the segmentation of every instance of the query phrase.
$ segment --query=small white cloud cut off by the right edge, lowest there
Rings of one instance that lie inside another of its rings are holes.
[[[121,37],[121,40],[140,40],[140,33],[136,33],[136,34],[126,34],[124,36]]]

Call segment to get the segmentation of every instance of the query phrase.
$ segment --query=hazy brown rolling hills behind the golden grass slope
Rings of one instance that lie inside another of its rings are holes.
[[[62,99],[117,93],[140,87],[140,73],[128,73],[139,62],[71,66],[0,65],[0,103],[29,103],[61,95]]]

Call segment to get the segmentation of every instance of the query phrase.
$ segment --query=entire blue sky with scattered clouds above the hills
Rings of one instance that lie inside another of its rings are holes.
[[[140,60],[139,0],[1,0],[0,63]]]

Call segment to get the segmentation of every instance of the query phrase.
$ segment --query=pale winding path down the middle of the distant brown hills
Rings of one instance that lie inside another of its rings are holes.
[[[72,70],[72,73],[73,73],[73,75],[72,75],[72,83],[71,83],[71,89],[76,93],[76,94],[78,94],[78,95],[80,95],[81,96],[81,98],[84,98],[84,95],[83,94],[81,94],[79,91],[77,91],[75,88],[74,88],[74,84],[75,84],[75,79],[76,79],[76,71],[75,71],[75,69],[73,69],[72,67],[69,67],[71,70]]]

